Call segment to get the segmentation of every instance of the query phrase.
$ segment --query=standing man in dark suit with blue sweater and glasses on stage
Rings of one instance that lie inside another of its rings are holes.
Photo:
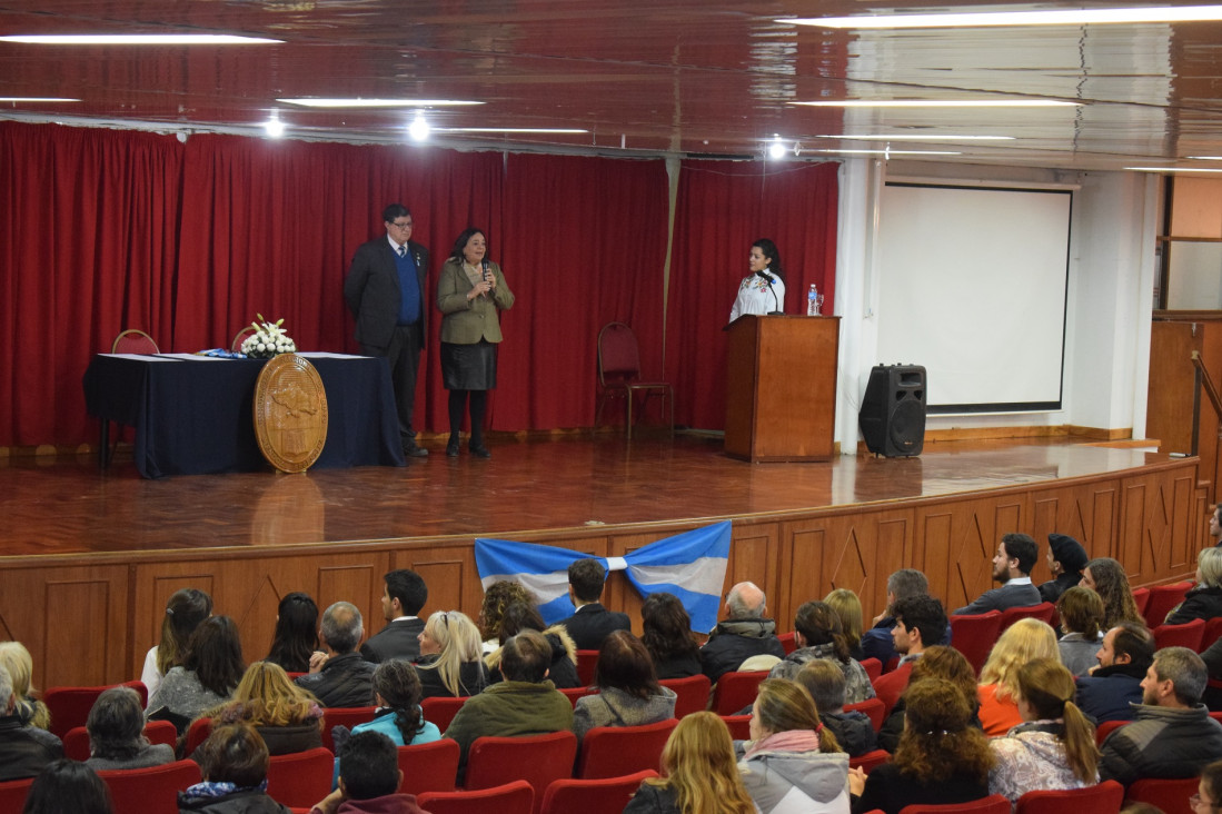
[[[412,213],[403,204],[382,211],[386,236],[363,243],[343,281],[343,301],[357,318],[357,342],[365,356],[384,356],[398,408],[403,453],[423,458],[412,414],[429,309],[424,298],[429,249],[412,240]]]

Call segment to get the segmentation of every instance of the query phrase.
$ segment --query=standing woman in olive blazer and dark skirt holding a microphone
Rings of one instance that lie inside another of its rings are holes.
[[[484,446],[488,391],[496,387],[496,346],[501,341],[500,310],[513,307],[513,292],[501,266],[486,259],[488,238],[468,229],[455,241],[437,280],[441,319],[441,379],[450,391],[450,442],[446,455],[458,456],[458,430],[470,402],[470,453],[491,457]]]

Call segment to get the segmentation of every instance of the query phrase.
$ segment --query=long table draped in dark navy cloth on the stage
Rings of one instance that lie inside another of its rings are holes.
[[[326,390],[326,444],[316,468],[404,466],[390,367],[384,358],[303,353]],[[254,434],[254,387],[265,359],[99,353],[84,374],[86,407],[134,428],[145,478],[257,472],[270,464]]]

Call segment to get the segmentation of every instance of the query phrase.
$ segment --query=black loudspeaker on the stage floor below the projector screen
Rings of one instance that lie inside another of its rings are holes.
[[[888,458],[920,455],[925,446],[925,368],[875,365],[858,423],[870,452]]]

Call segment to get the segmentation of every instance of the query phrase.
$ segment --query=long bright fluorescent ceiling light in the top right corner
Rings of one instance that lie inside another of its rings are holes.
[[[1222,20],[1222,6],[1151,6],[1145,9],[1058,9],[945,15],[879,15],[802,17],[778,23],[819,28],[969,28],[979,26],[1085,26],[1091,23],[1160,23]]]

